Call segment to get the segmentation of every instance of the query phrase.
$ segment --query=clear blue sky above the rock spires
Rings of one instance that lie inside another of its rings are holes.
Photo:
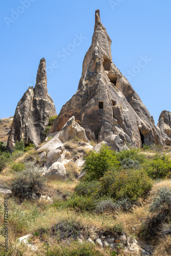
[[[171,111],[170,0],[8,0],[0,3],[0,118],[13,116],[29,85],[35,85],[42,57],[48,67],[48,93],[59,113],[77,91],[96,9],[112,39],[113,62],[155,123],[162,110]],[[139,67],[141,58],[146,60]]]

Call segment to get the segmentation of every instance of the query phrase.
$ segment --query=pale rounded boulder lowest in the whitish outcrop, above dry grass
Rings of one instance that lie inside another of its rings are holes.
[[[66,168],[61,162],[53,163],[44,173],[49,180],[66,180]]]

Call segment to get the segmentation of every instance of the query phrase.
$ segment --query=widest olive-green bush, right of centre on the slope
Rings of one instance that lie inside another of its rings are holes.
[[[116,200],[129,198],[136,201],[152,188],[152,180],[143,170],[109,171],[100,179],[101,195],[108,195]]]

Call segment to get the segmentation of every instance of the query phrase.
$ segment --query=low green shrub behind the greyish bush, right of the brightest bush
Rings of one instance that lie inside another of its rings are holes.
[[[143,163],[145,161],[145,155],[141,153],[141,151],[137,148],[130,148],[130,150],[123,150],[116,154],[118,161],[123,161],[125,158],[130,158],[134,161],[138,161],[139,163]]]

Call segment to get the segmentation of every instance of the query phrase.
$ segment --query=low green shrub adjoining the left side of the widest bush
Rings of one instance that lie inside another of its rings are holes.
[[[99,181],[81,181],[75,187],[75,193],[78,196],[92,196],[99,189]]]

